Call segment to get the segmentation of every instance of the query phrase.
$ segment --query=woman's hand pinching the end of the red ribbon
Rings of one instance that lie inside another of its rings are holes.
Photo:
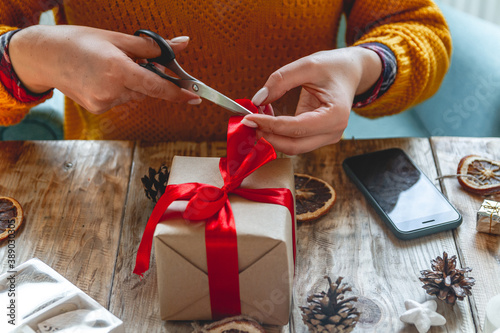
[[[354,96],[375,84],[382,72],[379,56],[362,47],[322,51],[292,62],[269,77],[252,99],[265,114],[242,123],[289,155],[338,142],[349,119]],[[271,116],[270,103],[302,86],[295,116]]]

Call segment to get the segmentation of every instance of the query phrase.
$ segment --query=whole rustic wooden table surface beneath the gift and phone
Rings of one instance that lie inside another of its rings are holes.
[[[306,332],[298,306],[310,291],[326,288],[324,275],[344,276],[360,296],[363,314],[355,332],[416,332],[399,316],[406,299],[432,298],[419,272],[443,251],[472,267],[477,282],[473,296],[455,307],[438,303],[447,324],[431,332],[482,332],[486,303],[500,293],[500,236],[475,230],[483,197],[463,191],[456,179],[435,181],[463,214],[463,224],[417,240],[395,238],[341,168],[348,156],[388,147],[407,151],[431,179],[455,173],[464,155],[500,160],[500,138],[447,137],[346,140],[293,157],[296,172],[325,179],[338,197],[325,217],[298,226],[293,315],[288,326],[269,332]],[[40,258],[122,319],[127,332],[191,332],[191,323],[160,320],[154,261],[142,281],[132,274],[153,208],[140,178],[174,155],[224,154],[222,142],[0,142],[0,195],[16,198],[26,211],[17,262]],[[0,244],[1,272],[8,270],[6,250]]]

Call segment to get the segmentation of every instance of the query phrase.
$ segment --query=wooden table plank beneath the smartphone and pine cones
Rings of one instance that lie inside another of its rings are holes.
[[[430,179],[436,177],[427,139],[346,140],[294,158],[296,172],[322,178],[337,190],[337,202],[326,216],[298,228],[295,332],[307,332],[298,306],[305,305],[311,292],[326,289],[324,275],[345,277],[352,294],[361,297],[358,306],[364,314],[356,332],[416,332],[414,326],[399,320],[404,301],[434,298],[425,293],[418,277],[443,251],[456,253],[452,232],[397,239],[342,170],[341,163],[348,156],[390,147],[402,148]],[[453,308],[438,302],[438,312],[447,324],[433,327],[431,332],[475,330],[467,302]]]

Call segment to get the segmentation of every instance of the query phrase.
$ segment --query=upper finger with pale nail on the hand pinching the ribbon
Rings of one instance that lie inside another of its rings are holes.
[[[285,65],[272,73],[267,82],[252,98],[256,106],[272,103],[282,97],[287,91],[309,82],[305,58]]]

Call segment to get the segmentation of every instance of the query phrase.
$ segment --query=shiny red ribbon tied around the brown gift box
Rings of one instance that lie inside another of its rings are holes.
[[[249,100],[238,103],[257,112]],[[248,175],[262,165],[276,159],[273,146],[264,138],[255,144],[255,129],[240,123],[243,117],[231,117],[227,134],[227,158],[221,158],[219,170],[224,186],[200,183],[168,185],[149,217],[141,244],[137,252],[134,273],[143,276],[149,269],[151,246],[156,225],[164,212],[176,200],[189,200],[183,218],[191,221],[204,220],[207,251],[207,274],[210,292],[212,319],[241,314],[238,246],[233,212],[228,194],[245,199],[282,205],[294,217],[293,195],[286,188],[245,189],[240,184]],[[295,226],[292,226],[293,253],[295,261]]]

